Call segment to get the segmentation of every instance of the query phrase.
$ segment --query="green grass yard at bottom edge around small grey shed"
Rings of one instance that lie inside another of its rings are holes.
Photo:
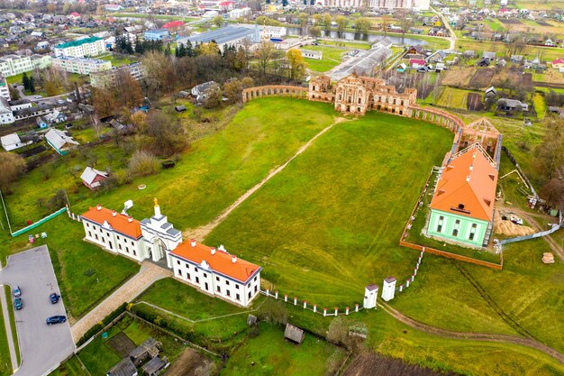
[[[284,328],[259,325],[260,333],[247,338],[229,357],[221,375],[325,375],[330,357],[344,361],[343,349],[305,335],[302,344],[284,339]],[[251,364],[251,362],[254,362]]]

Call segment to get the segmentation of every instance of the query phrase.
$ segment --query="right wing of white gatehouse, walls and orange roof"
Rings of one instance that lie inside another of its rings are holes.
[[[259,265],[195,240],[180,243],[170,252],[177,279],[205,293],[247,307],[260,292]]]

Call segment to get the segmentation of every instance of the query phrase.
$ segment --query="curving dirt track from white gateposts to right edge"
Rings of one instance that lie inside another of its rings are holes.
[[[514,335],[490,335],[483,333],[462,333],[462,332],[452,332],[450,330],[441,329],[434,326],[428,326],[426,324],[415,321],[413,318],[407,317],[396,309],[388,306],[386,303],[378,303],[379,307],[382,307],[389,315],[394,316],[397,320],[401,321],[407,326],[411,326],[417,330],[421,330],[425,333],[430,333],[432,335],[441,335],[444,337],[457,338],[457,339],[467,339],[474,341],[487,341],[487,342],[500,342],[507,344],[521,344],[523,346],[532,347],[535,350],[539,350],[542,353],[550,355],[557,361],[564,364],[564,354],[559,353],[555,349],[546,344],[541,344],[531,338],[516,337]]]

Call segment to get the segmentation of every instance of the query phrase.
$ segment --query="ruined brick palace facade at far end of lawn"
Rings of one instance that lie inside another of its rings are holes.
[[[387,86],[382,78],[354,75],[342,78],[332,85],[330,78],[320,76],[310,81],[307,98],[331,102],[335,110],[343,114],[364,115],[367,111],[375,110],[411,116],[409,107],[415,104],[417,89],[406,88],[400,94],[396,92],[396,87]]]

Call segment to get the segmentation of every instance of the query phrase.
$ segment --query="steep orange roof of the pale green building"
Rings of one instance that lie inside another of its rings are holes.
[[[497,170],[478,145],[469,146],[442,171],[431,208],[491,221],[496,202]]]

